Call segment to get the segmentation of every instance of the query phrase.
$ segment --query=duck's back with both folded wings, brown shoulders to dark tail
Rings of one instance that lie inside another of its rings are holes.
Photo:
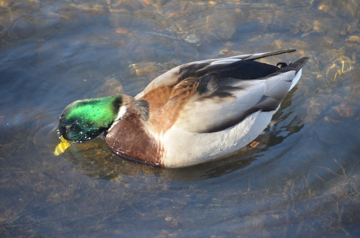
[[[275,110],[307,58],[280,69],[251,60],[262,55],[272,54],[188,63],[159,76],[137,96],[149,102],[153,130],[166,132],[177,127],[211,133],[231,127],[255,111]]]

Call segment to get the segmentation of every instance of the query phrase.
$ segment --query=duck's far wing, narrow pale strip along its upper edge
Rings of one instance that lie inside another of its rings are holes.
[[[279,55],[294,51],[296,51],[296,49],[286,49],[186,63],[177,66],[154,79],[151,83],[149,83],[149,85],[144,89],[144,91],[140,92],[138,95],[135,96],[135,99],[140,99],[141,97],[144,97],[147,93],[154,93],[155,91],[159,91],[159,88],[161,88],[161,90],[164,90],[165,88],[166,90],[166,88],[176,86],[178,83],[180,83],[186,78],[198,78],[202,75],[206,75],[213,71],[219,70],[229,64],[240,60],[256,60],[271,55]]]

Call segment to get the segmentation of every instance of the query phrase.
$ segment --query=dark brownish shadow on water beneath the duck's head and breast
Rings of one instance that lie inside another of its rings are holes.
[[[75,168],[87,171],[87,176],[98,177],[102,179],[112,179],[123,182],[123,175],[149,174],[156,175],[168,180],[181,182],[191,182],[199,179],[220,177],[235,170],[245,168],[250,165],[260,149],[247,148],[240,153],[242,159],[239,159],[239,152],[225,158],[190,166],[186,168],[168,169],[158,168],[149,165],[137,164],[124,160],[113,154],[107,147],[105,141],[96,138],[89,143],[73,145],[66,153],[67,160],[77,166]],[[126,181],[125,181],[126,182]]]

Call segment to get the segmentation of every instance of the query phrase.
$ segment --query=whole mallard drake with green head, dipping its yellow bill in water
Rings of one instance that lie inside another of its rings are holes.
[[[75,101],[60,116],[55,154],[102,132],[116,155],[153,166],[185,167],[231,154],[266,128],[309,58],[276,66],[255,60],[293,51],[187,63],[135,97]]]

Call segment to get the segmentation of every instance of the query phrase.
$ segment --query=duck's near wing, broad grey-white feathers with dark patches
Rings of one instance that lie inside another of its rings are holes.
[[[277,110],[300,78],[307,60],[301,58],[282,69],[256,61],[237,61],[192,78],[189,84],[196,81],[198,86],[181,108],[174,126],[188,132],[217,132],[238,124],[256,111]],[[264,72],[265,75],[257,78],[256,75]]]

